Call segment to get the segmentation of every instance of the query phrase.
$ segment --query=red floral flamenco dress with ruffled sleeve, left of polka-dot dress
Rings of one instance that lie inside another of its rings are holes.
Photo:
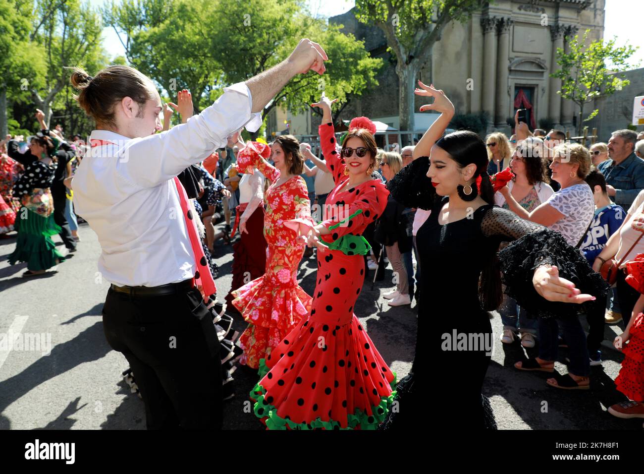
[[[240,337],[244,350],[240,363],[254,369],[298,326],[312,303],[297,279],[304,242],[284,225],[291,219],[312,224],[307,184],[301,176],[294,176],[276,186],[279,170],[265,161],[269,153],[266,144],[252,142],[237,158],[240,172],[253,173],[256,167],[272,181],[265,195],[264,237],[268,244],[265,273],[232,291],[233,306],[249,323]]]

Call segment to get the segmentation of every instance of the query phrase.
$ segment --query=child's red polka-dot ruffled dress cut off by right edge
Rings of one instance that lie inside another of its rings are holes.
[[[626,281],[644,293],[644,253],[639,253],[634,261],[627,262],[629,276]],[[644,314],[639,313],[630,328],[630,338],[622,345],[625,358],[621,362],[620,374],[615,379],[617,390],[630,400],[644,402]]]

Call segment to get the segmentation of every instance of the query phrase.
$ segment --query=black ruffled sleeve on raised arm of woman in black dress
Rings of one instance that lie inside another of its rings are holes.
[[[431,210],[437,199],[431,179],[427,177],[430,169],[429,157],[422,156],[396,173],[387,188],[393,199],[407,208]]]

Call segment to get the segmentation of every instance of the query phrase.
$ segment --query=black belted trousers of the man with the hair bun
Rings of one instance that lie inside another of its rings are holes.
[[[111,348],[132,368],[148,430],[222,428],[219,341],[196,288],[162,296],[110,288],[103,326]]]

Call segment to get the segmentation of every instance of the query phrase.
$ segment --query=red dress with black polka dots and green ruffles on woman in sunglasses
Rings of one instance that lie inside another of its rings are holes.
[[[370,248],[362,233],[383,212],[389,192],[374,180],[342,191],[346,165],[337,155],[332,124],[321,125],[319,133],[336,183],[327,198],[330,219],[323,221],[332,233],[321,237],[328,250],[317,252],[308,319],[261,360],[261,380],[251,399],[269,430],[373,430],[392,406],[395,373],[353,310],[365,279],[363,255]]]

